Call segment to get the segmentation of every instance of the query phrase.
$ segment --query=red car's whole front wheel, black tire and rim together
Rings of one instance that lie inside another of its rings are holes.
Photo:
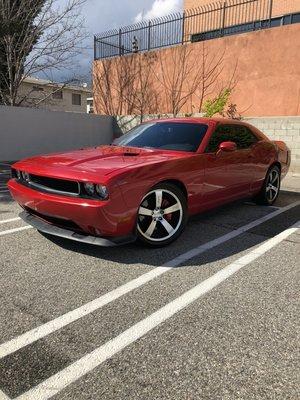
[[[161,206],[157,207],[160,198]],[[172,212],[164,212],[171,210],[171,207]],[[181,235],[187,218],[187,199],[182,191],[171,183],[157,184],[145,194],[138,209],[137,238],[147,246],[166,246]]]

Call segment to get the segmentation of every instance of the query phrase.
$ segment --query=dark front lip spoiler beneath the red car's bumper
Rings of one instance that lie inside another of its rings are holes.
[[[136,239],[136,237],[133,235],[116,238],[101,238],[97,236],[85,235],[83,233],[72,232],[69,229],[64,229],[55,225],[51,225],[48,222],[42,220],[39,217],[36,217],[35,215],[30,214],[27,211],[22,211],[19,216],[20,218],[22,218],[23,221],[36,228],[38,231],[54,236],[63,237],[65,239],[75,240],[77,242],[93,244],[96,246],[114,247],[122,244],[132,243]]]

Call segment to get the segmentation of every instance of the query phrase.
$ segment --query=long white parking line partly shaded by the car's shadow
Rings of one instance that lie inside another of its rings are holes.
[[[37,328],[34,328],[30,331],[27,331],[23,333],[20,336],[17,336],[14,339],[11,339],[10,341],[3,343],[0,345],[0,359],[14,353],[15,351],[21,349],[22,347],[25,347],[31,343],[34,343],[35,341],[69,325],[70,323],[77,321],[78,319],[91,314],[92,312],[104,307],[105,305],[111,303],[112,301],[124,296],[125,294],[145,285],[146,283],[152,281],[153,279],[161,276],[162,274],[170,271],[172,268],[177,267],[181,263],[195,257],[199,256],[200,254],[204,253],[207,250],[210,250],[222,243],[225,243],[241,234],[244,232],[262,224],[263,222],[266,222],[288,210],[290,210],[293,207],[296,207],[297,205],[300,205],[300,201],[297,201],[295,203],[292,203],[280,210],[274,211],[264,217],[261,217],[259,219],[256,219],[255,221],[250,222],[247,225],[244,225],[236,230],[233,230],[226,235],[220,236],[217,239],[211,240],[208,243],[205,243],[201,246],[198,246],[184,254],[181,254],[180,256],[166,262],[163,266],[157,267],[152,269],[149,272],[146,272],[143,275],[140,275],[139,277],[125,283],[124,285],[121,285],[117,287],[116,289],[98,297],[95,300],[90,301],[89,303],[86,303],[82,305],[79,308],[76,308],[75,310],[69,311],[66,314],[63,314],[52,321],[46,322],[43,325],[38,326]]]

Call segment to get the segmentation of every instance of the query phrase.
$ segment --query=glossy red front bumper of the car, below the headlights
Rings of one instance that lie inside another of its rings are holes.
[[[134,210],[128,210],[118,188],[109,201],[42,193],[15,179],[8,182],[8,188],[22,208],[50,226],[95,237],[126,237],[134,232]]]

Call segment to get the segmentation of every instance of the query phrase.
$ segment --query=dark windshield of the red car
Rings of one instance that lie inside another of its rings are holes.
[[[113,145],[195,152],[207,128],[205,124],[148,122],[131,129]]]

